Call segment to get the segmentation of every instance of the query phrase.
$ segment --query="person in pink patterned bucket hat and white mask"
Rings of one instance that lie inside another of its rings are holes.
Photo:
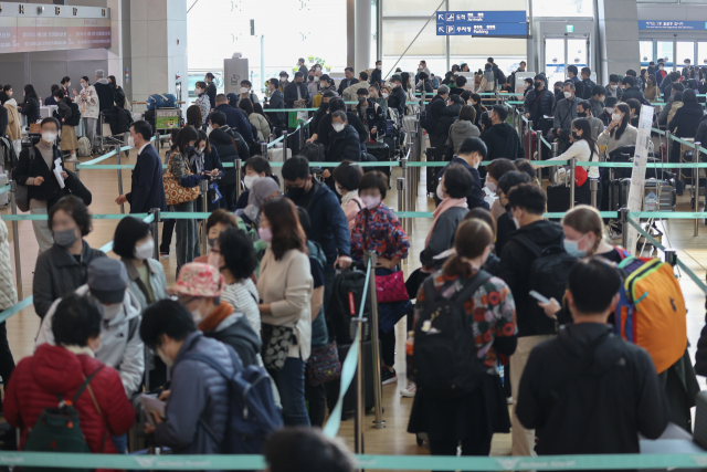
[[[217,261],[219,263],[220,260]],[[257,354],[262,347],[260,336],[243,313],[234,312],[231,304],[221,301],[226,283],[220,269],[198,262],[186,264],[179,273],[177,285],[169,293],[189,310],[194,324],[205,337],[231,346],[243,367],[258,365]]]

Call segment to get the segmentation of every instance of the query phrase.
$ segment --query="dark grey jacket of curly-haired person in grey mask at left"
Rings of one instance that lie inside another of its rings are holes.
[[[34,312],[43,318],[56,298],[65,296],[86,283],[88,264],[96,258],[104,258],[103,251],[93,249],[84,241],[81,262],[54,243],[36,259],[34,268]]]

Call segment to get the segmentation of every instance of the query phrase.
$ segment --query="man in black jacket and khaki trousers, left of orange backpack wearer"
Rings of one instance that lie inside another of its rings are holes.
[[[555,337],[555,322],[529,297],[531,265],[542,250],[562,247],[562,228],[542,219],[547,197],[541,188],[531,183],[514,187],[508,193],[508,206],[518,230],[500,252],[498,276],[506,282],[516,300],[518,346],[510,357],[510,386],[513,399],[518,405],[518,386],[530,350],[544,340]],[[530,310],[535,306],[535,310]],[[511,416],[511,453],[531,454],[535,449],[535,431],[526,430],[516,412]]]

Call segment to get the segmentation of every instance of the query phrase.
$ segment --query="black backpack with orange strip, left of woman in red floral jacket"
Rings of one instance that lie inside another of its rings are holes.
[[[370,314],[370,297],[363,301],[363,287],[366,286],[366,273],[355,270],[344,270],[336,274],[331,284],[329,306],[327,314],[329,333],[336,338],[339,346],[348,346],[354,343],[351,336],[351,318],[358,316],[361,303],[366,303],[363,316]],[[363,340],[370,339],[370,333],[362,333]]]

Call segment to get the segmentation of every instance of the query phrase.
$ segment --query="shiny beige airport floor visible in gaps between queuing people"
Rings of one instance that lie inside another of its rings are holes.
[[[163,153],[162,153],[163,154]],[[131,153],[129,162],[123,158],[122,164],[135,164],[136,154]],[[88,160],[88,159],[82,159]],[[115,159],[108,159],[102,164],[116,164]],[[426,198],[424,168],[421,169],[421,183],[416,197],[419,211],[432,211],[434,202]],[[400,177],[400,168],[393,170],[392,178]],[[93,192],[93,204],[91,211],[95,214],[101,213],[118,213],[119,207],[114,203],[118,196],[118,182],[116,170],[82,170],[82,181]],[[124,191],[130,188],[130,171],[123,171]],[[393,186],[394,187],[394,186]],[[398,208],[397,191],[391,190],[386,199],[386,204],[391,208]],[[126,204],[126,211],[129,207]],[[684,197],[678,198],[677,211],[690,211],[689,196],[685,192]],[[2,211],[9,213],[9,209]],[[113,233],[117,221],[94,219],[94,230],[86,237],[88,243],[94,248],[99,248],[113,239]],[[420,266],[418,254],[424,247],[425,235],[432,224],[432,219],[416,219],[413,222],[413,231],[410,235],[410,261],[403,264],[405,276]],[[707,266],[707,227],[704,221],[699,221],[700,237],[693,237],[694,220],[664,220],[657,223],[663,231],[663,243],[677,250],[678,258],[693,270],[700,280],[705,280]],[[12,227],[8,222],[10,229],[10,251],[13,252]],[[19,222],[20,254],[22,269],[22,284],[24,297],[32,294],[32,279],[34,264],[38,254],[38,244],[32,231],[30,221]],[[115,254],[110,253],[110,256]],[[646,254],[647,255],[647,252]],[[662,254],[659,254],[662,256]],[[165,272],[167,274],[168,285],[175,283],[176,256],[172,252],[171,259],[162,260]],[[14,266],[14,258],[12,258]],[[687,304],[687,328],[690,343],[690,354],[694,356],[697,346],[697,339],[703,325],[705,324],[705,294],[697,285],[685,274],[680,274],[680,286],[685,295]],[[8,337],[10,347],[14,355],[15,363],[21,358],[32,355],[34,347],[34,337],[40,325],[40,318],[34,314],[33,307],[30,306],[19,314],[12,316],[8,321]],[[365,421],[365,452],[371,454],[428,454],[429,451],[424,447],[418,447],[415,437],[407,432],[408,418],[412,407],[413,399],[402,398],[400,390],[405,388],[405,322],[404,319],[397,325],[397,354],[395,367],[398,371],[398,382],[383,387],[383,408],[386,420],[384,429],[373,429],[373,416],[368,415]],[[705,379],[699,377],[700,386],[705,388]],[[354,447],[354,420],[349,419],[341,423],[340,437],[352,448]],[[506,455],[510,453],[510,434],[497,434],[494,438],[492,447],[492,455]]]

